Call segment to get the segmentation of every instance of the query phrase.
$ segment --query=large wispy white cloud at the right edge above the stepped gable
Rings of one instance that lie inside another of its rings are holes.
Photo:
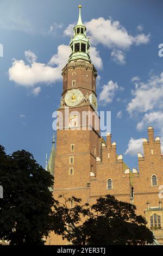
[[[127,111],[131,115],[141,114],[141,120],[137,123],[136,129],[142,131],[148,126],[153,126],[163,143],[163,72],[160,76],[151,76],[147,83],[138,81],[135,84],[135,90],[131,92],[134,98],[128,103]],[[142,113],[144,113],[143,116]],[[163,151],[163,145],[161,150]]]

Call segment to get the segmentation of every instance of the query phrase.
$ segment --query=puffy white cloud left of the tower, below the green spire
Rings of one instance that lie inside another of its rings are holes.
[[[58,46],[58,53],[54,54],[48,64],[35,62],[36,56],[26,51],[29,64],[21,60],[13,60],[9,69],[9,80],[20,86],[33,88],[36,84],[51,84],[61,80],[61,69],[66,65],[69,47]],[[55,64],[55,67],[52,65]]]

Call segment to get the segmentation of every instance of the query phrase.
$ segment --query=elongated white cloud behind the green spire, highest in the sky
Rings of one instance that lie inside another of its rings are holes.
[[[92,19],[86,22],[85,26],[92,45],[102,44],[109,48],[127,49],[133,44],[147,44],[150,38],[150,34],[130,35],[119,21],[105,20],[103,17]],[[70,24],[64,35],[73,36],[73,27],[74,24]]]

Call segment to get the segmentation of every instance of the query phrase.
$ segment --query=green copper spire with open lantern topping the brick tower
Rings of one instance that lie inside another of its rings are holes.
[[[75,60],[85,60],[91,63],[89,55],[89,39],[86,37],[86,27],[83,25],[81,17],[82,5],[79,5],[79,19],[76,26],[74,26],[73,38],[71,37],[70,47],[71,54],[68,62],[73,62]]]

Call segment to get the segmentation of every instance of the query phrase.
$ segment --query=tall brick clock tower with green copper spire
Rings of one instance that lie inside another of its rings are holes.
[[[79,5],[79,19],[70,41],[70,58],[62,69],[53,193],[55,199],[65,194],[66,197],[82,198],[82,203],[86,203],[90,200],[90,175],[96,175],[101,136],[96,99],[97,71],[91,63],[81,8]]]

